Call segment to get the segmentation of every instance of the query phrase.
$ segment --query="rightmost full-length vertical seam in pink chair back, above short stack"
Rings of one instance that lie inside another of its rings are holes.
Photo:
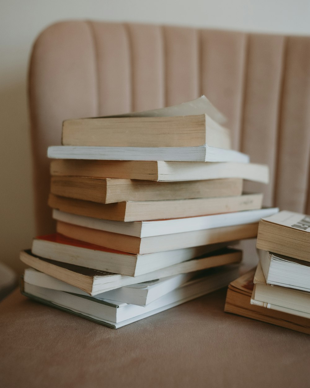
[[[282,105],[283,105],[283,90],[285,85],[285,77],[286,77],[286,63],[288,56],[288,37],[284,36],[283,40],[283,54],[281,59],[281,77],[280,77],[280,85],[279,85],[279,96],[278,96],[278,107],[277,107],[277,123],[276,123],[276,156],[274,158],[274,192],[272,196],[272,204],[276,204],[277,200],[277,187],[278,187],[278,173],[279,173],[279,165],[280,165],[280,140],[281,140],[281,116],[282,116]]]

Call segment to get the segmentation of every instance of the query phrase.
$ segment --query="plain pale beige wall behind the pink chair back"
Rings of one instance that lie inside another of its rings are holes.
[[[100,19],[310,35],[309,16],[306,0],[0,0],[0,260],[21,271],[35,233],[26,76],[42,29]]]

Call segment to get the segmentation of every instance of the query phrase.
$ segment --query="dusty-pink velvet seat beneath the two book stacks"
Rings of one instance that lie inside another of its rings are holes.
[[[120,329],[0,303],[3,388],[307,387],[310,336],[224,313],[226,289]]]

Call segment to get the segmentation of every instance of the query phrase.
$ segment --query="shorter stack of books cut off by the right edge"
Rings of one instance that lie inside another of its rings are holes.
[[[310,334],[310,216],[280,211],[259,223],[259,263],[229,285],[225,310]]]

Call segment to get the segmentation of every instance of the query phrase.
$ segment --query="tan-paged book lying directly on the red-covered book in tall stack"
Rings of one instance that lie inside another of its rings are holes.
[[[216,244],[218,242],[228,243],[250,239],[257,236],[257,229],[258,222],[140,238],[127,236],[125,234],[106,232],[105,230],[86,228],[84,226],[73,225],[62,221],[57,221],[56,226],[57,232],[63,236],[98,246],[104,246],[109,249],[116,249],[140,255],[171,251],[172,249]],[[38,255],[40,254],[38,253]],[[54,257],[50,258],[53,259]],[[156,258],[155,260],[158,260],[159,262],[159,258]],[[137,270],[138,269],[136,269],[136,271]]]

